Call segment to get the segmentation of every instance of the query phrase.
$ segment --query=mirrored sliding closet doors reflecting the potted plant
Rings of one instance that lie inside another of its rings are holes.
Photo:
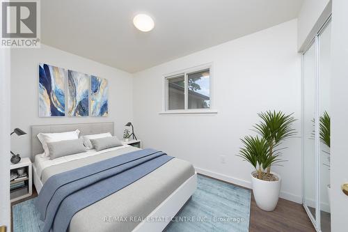
[[[330,19],[303,53],[303,206],[317,231],[331,231]]]

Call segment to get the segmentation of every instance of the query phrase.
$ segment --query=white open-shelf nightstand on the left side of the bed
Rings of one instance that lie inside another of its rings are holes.
[[[31,196],[33,183],[31,178],[31,161],[29,158],[22,158],[18,164],[11,164],[10,176],[14,178],[10,180],[11,202]]]

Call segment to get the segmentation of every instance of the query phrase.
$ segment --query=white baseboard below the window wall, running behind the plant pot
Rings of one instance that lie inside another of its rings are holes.
[[[246,180],[242,180],[242,179],[239,179],[239,178],[234,178],[232,176],[227,176],[225,174],[216,173],[214,171],[209,171],[207,169],[201,169],[199,167],[195,167],[195,169],[196,169],[196,172],[201,173],[203,175],[211,176],[212,178],[223,180],[223,181],[226,181],[228,183],[232,183],[232,184],[239,185],[239,186],[242,186],[242,187],[247,187],[248,189],[252,188],[251,181],[246,181]],[[280,196],[279,197],[283,198],[285,200],[288,200],[288,201],[294,201],[294,202],[300,203],[300,204],[302,203],[302,197],[301,196],[292,194],[290,192],[280,192]]]

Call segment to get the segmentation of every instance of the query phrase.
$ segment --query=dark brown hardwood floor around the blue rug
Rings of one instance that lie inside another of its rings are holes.
[[[209,177],[209,176],[208,176]],[[240,187],[240,186],[239,186]],[[11,204],[13,206],[16,203],[26,201],[35,196],[38,193],[33,186],[33,195],[29,198],[16,201]],[[11,212],[12,221],[12,212]],[[253,194],[251,194],[251,212],[250,212],[250,232],[315,232],[315,229],[310,222],[306,211],[303,206],[292,201],[285,199],[279,199],[276,210],[272,212],[266,212],[256,206],[256,202]]]

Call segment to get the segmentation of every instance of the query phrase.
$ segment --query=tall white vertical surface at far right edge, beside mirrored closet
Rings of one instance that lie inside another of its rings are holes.
[[[331,22],[331,231],[347,231],[348,196],[340,185],[348,182],[348,1],[333,1]]]

